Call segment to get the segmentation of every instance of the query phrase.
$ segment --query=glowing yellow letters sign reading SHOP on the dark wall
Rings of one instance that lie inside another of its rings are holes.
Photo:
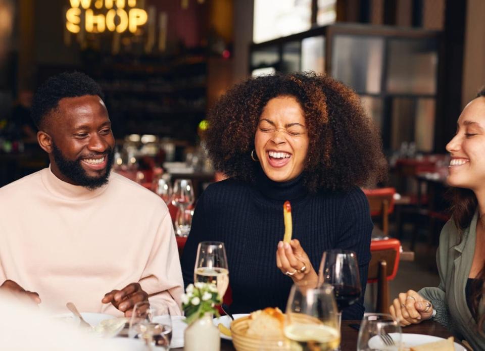
[[[135,33],[138,27],[148,20],[147,12],[136,8],[136,0],[69,0],[69,2],[71,8],[66,12],[66,28],[71,33],[79,33],[81,26],[84,26],[88,33],[103,33],[105,30],[118,33],[129,30]],[[96,10],[91,8],[91,3]],[[82,10],[84,10],[84,16],[82,16]]]

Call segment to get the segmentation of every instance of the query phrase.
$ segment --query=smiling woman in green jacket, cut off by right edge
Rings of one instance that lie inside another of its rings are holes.
[[[438,287],[402,292],[390,312],[402,326],[433,319],[475,350],[485,349],[485,88],[458,118],[447,182],[452,218],[440,234]]]

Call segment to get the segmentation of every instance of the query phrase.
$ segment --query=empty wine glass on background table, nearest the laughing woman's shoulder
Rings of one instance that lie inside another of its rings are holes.
[[[192,181],[190,179],[176,179],[173,184],[172,204],[178,207],[175,232],[180,236],[187,236],[190,232],[185,210],[193,204],[194,199]]]

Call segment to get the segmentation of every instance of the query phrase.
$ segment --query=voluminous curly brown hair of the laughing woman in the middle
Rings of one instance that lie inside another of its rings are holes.
[[[294,96],[308,129],[304,182],[320,189],[346,190],[385,178],[380,135],[349,87],[310,73],[251,78],[233,86],[209,114],[205,139],[209,156],[226,176],[254,182],[259,163],[251,159],[261,113],[277,96]]]

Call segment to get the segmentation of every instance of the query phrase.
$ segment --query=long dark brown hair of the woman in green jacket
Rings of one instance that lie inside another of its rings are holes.
[[[485,86],[483,86],[476,97],[485,96]],[[458,227],[460,233],[463,232],[464,229],[470,226],[471,220],[475,214],[476,208],[478,207],[478,200],[476,198],[475,193],[470,189],[464,188],[452,188],[449,193],[451,199],[451,213],[453,220],[455,221],[455,225]],[[479,217],[480,221],[483,221],[485,218]],[[482,223],[485,224],[485,223]],[[460,238],[461,239],[461,238]],[[470,302],[471,302],[471,315],[475,320],[478,330],[480,333],[483,333],[483,323],[485,322],[485,314],[480,315],[479,313],[479,305],[480,301],[485,294],[485,264],[481,268],[480,272],[475,277],[471,285],[471,295],[470,295]]]

